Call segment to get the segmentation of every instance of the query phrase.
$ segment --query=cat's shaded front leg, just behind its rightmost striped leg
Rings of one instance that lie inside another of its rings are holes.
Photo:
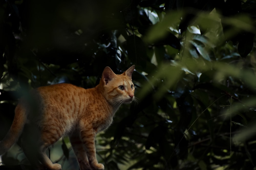
[[[77,161],[81,170],[92,170],[89,165],[86,151],[79,134],[72,134],[69,136],[72,148],[76,154]]]

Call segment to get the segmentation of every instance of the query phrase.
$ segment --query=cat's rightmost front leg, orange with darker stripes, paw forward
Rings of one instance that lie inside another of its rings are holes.
[[[88,156],[89,164],[92,169],[103,170],[104,165],[98,163],[96,159],[96,149],[95,149],[95,135],[96,133],[92,128],[81,131],[81,140],[86,148],[86,153]]]

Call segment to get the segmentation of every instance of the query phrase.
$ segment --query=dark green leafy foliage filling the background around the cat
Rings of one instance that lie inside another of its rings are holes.
[[[97,136],[105,169],[256,169],[255,11],[255,0],[1,1],[0,141],[29,89],[91,88],[106,66],[135,64],[138,103]],[[28,164],[19,145],[0,164]],[[49,154],[78,169],[67,137]]]

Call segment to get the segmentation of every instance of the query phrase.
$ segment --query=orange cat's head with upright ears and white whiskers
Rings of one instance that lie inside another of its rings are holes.
[[[135,65],[127,69],[123,74],[115,74],[109,67],[102,73],[104,96],[113,105],[120,106],[122,103],[131,103],[134,100],[134,84],[132,73]]]

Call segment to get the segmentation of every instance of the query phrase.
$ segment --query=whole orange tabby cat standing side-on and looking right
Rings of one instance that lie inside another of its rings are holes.
[[[27,129],[29,133],[22,135],[22,148],[31,165],[61,169],[61,165],[52,164],[45,152],[63,135],[69,135],[81,170],[104,169],[96,159],[95,135],[110,126],[122,103],[133,101],[134,68],[133,65],[116,75],[106,67],[100,83],[91,89],[55,84],[32,90],[30,97],[21,99],[15,109],[12,126],[0,142],[0,155]]]

